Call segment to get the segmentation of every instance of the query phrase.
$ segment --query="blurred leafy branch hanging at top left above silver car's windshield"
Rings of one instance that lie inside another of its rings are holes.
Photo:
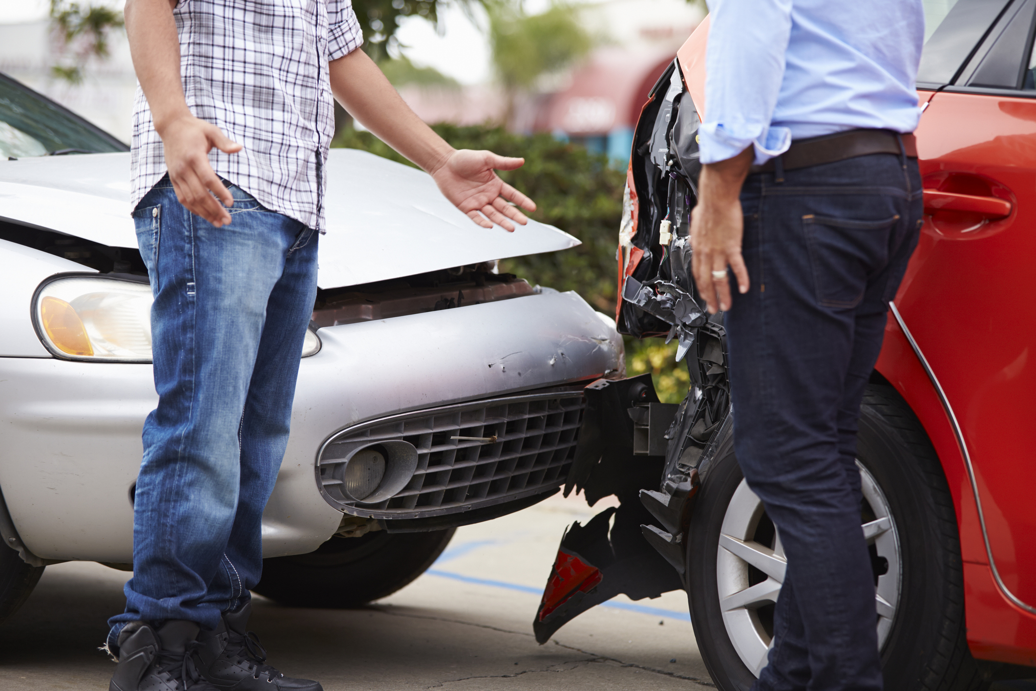
[[[60,62],[51,67],[51,74],[70,84],[80,84],[86,62],[90,58],[107,58],[109,34],[124,25],[122,12],[107,5],[51,0],[51,30],[61,56]]]

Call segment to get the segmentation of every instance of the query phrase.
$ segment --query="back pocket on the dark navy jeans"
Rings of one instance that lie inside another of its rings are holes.
[[[803,230],[821,307],[855,308],[867,281],[888,263],[889,231],[899,214],[877,221],[834,219],[808,213]]]

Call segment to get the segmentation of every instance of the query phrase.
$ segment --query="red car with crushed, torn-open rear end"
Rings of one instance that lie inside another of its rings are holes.
[[[1036,0],[925,4],[926,217],[858,452],[890,691],[1036,678]],[[566,489],[622,506],[570,528],[535,628],[546,640],[618,593],[682,587],[714,681],[733,690],[766,664],[784,558],[733,457],[721,319],[687,275],[707,38],[708,20],[644,106],[618,254],[620,330],[679,338],[691,391],[667,406],[648,377],[587,388]]]

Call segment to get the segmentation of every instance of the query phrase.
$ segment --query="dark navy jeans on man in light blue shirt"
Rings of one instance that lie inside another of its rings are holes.
[[[915,160],[890,154],[745,181],[751,290],[725,325],[735,451],[787,572],[758,691],[882,688],[856,432],[886,311],[922,220]]]

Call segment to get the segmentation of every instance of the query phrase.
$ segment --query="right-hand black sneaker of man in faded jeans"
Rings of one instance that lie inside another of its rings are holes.
[[[198,636],[198,669],[221,691],[323,691],[317,682],[291,679],[266,664],[259,636],[248,631],[252,603],[224,612],[214,631]]]

